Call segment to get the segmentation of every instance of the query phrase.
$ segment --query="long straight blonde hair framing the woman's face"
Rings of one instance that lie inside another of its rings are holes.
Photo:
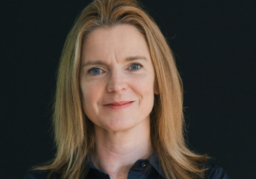
[[[60,58],[53,125],[57,153],[41,170],[61,178],[81,178],[94,151],[93,125],[82,109],[79,66],[82,42],[96,28],[130,24],[144,35],[156,73],[151,140],[167,178],[200,178],[206,155],[191,152],[183,136],[183,89],[174,57],[155,21],[135,0],[95,0],[77,18]],[[49,175],[49,176],[50,176]]]

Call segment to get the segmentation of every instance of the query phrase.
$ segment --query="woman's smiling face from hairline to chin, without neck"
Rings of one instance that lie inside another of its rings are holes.
[[[120,131],[150,120],[154,68],[134,26],[94,30],[82,45],[79,78],[84,112],[98,127]]]

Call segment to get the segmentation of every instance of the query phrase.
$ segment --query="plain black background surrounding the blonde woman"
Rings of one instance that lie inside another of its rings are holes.
[[[91,1],[1,1],[0,178],[53,158],[51,100],[63,43]],[[189,146],[230,179],[256,178],[255,1],[142,1],[174,51]]]

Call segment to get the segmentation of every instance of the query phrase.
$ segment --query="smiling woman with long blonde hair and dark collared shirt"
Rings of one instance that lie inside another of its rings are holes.
[[[82,11],[62,52],[53,122],[56,157],[26,178],[228,178],[187,149],[172,52],[135,0]]]

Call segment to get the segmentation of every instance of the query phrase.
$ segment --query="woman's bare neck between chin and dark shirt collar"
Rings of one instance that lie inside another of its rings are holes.
[[[95,167],[108,173],[112,179],[127,178],[139,159],[147,159],[153,152],[150,138],[150,120],[125,131],[110,131],[95,125]]]

